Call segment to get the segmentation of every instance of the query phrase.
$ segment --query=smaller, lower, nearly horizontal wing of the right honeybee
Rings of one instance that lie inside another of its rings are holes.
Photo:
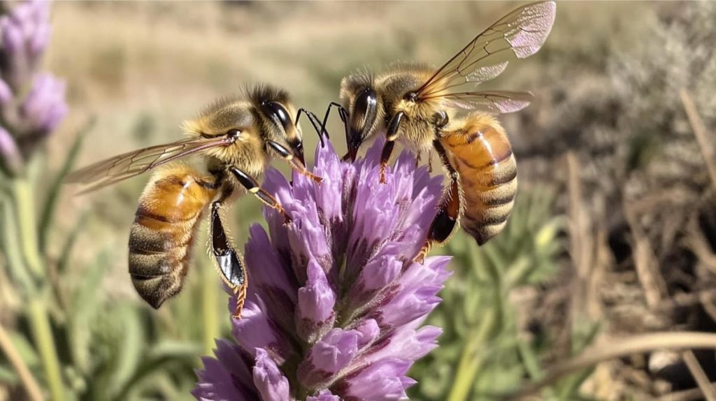
[[[516,91],[471,91],[436,96],[450,107],[483,110],[490,113],[512,113],[528,107],[533,95]]]

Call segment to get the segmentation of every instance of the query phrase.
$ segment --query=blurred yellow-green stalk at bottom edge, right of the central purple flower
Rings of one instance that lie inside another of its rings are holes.
[[[460,357],[460,363],[456,370],[457,376],[453,382],[453,387],[448,395],[448,401],[464,401],[470,395],[470,390],[475,385],[475,377],[478,377],[480,367],[483,364],[483,358],[479,355],[480,348],[488,342],[492,335],[493,328],[496,323],[496,312],[493,309],[488,310],[483,317],[480,326],[473,332],[468,343],[463,350],[463,356]]]

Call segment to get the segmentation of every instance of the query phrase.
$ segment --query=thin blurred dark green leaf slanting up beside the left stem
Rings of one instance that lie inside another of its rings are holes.
[[[90,129],[95,125],[95,119],[90,119],[87,124],[79,131],[77,137],[75,137],[72,147],[67,153],[67,157],[64,158],[62,167],[59,169],[57,176],[50,184],[49,191],[47,192],[47,199],[45,199],[44,206],[42,207],[42,214],[39,222],[39,247],[42,254],[47,254],[47,236],[49,229],[52,227],[54,222],[54,213],[57,209],[57,203],[59,200],[59,194],[62,192],[62,184],[67,174],[74,168],[75,162],[77,162],[77,156],[79,156],[79,149],[82,148],[82,142],[84,137],[87,135]]]

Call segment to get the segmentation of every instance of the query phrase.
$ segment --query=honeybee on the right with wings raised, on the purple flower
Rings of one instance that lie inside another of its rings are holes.
[[[450,177],[419,257],[434,242],[445,242],[458,218],[478,244],[498,234],[511,213],[517,169],[510,142],[494,113],[516,112],[532,99],[529,92],[464,91],[501,74],[508,62],[535,54],[551,31],[556,4],[522,6],[475,36],[439,69],[396,64],[379,74],[359,71],[341,82],[339,107],[346,124],[347,158],[378,133],[385,135],[381,182],[395,141],[417,153],[434,150]],[[456,117],[458,109],[468,110]],[[330,111],[330,107],[329,107]],[[326,118],[328,116],[326,112]]]

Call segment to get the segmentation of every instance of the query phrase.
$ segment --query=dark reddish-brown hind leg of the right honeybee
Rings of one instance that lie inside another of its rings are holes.
[[[448,154],[445,152],[445,148],[442,147],[442,144],[440,144],[437,139],[433,141],[432,144],[433,147],[435,147],[437,154],[440,155],[442,164],[450,174],[450,187],[442,196],[442,199],[440,200],[440,209],[437,210],[435,219],[432,220],[430,228],[427,230],[427,239],[425,239],[425,244],[422,246],[420,252],[417,254],[417,257],[414,259],[415,262],[419,263],[425,261],[427,252],[430,252],[430,247],[432,247],[433,243],[437,242],[438,244],[442,244],[448,240],[450,234],[452,234],[455,229],[455,225],[458,223],[461,209],[460,176],[450,164]]]

